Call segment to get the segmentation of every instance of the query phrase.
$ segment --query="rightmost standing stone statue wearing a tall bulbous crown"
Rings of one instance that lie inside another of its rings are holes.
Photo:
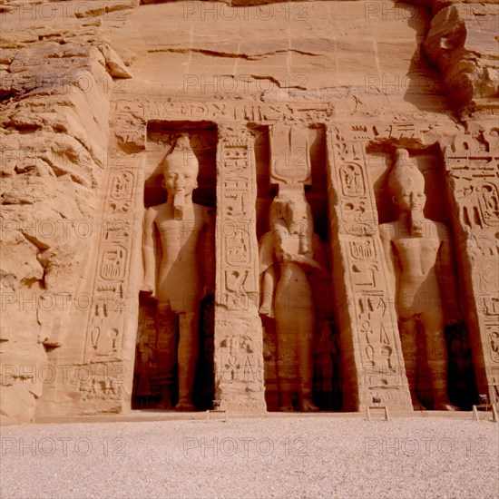
[[[425,178],[406,150],[396,150],[388,189],[398,220],[382,224],[380,235],[396,295],[398,329],[413,405],[424,408],[416,396],[417,365],[422,361],[416,335],[420,333],[426,342],[434,409],[455,410],[447,397],[444,335],[445,324],[458,319],[451,235],[444,224],[425,218]]]

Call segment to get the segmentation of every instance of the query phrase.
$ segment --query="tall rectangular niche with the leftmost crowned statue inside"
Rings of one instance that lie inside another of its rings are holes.
[[[217,127],[149,122],[132,407],[210,408]]]

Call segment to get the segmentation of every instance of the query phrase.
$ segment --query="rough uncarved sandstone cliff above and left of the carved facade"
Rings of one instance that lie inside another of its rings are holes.
[[[269,114],[290,100],[309,103],[309,113],[331,103],[338,121],[392,127],[389,140],[399,145],[453,147],[456,136],[471,131],[492,153],[496,2],[230,5],[2,5],[5,421],[33,419],[53,377],[51,358],[68,347],[75,298],[93,270],[85,264],[100,230],[103,176],[122,152],[144,148],[134,132],[138,112],[122,122],[119,147],[109,147],[113,113],[127,98],[139,96],[149,119],[159,97],[268,104]],[[398,123],[414,122],[426,123],[417,138],[397,132]]]

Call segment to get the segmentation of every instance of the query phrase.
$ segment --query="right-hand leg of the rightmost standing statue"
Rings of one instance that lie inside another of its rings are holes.
[[[437,411],[455,411],[447,395],[447,346],[445,344],[444,317],[439,308],[421,314],[425,329],[426,357],[433,388],[433,408]]]

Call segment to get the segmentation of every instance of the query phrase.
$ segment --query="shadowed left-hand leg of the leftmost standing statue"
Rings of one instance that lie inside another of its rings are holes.
[[[158,352],[158,375],[161,386],[161,401],[158,407],[171,409],[173,386],[177,364],[177,315],[170,305],[158,304],[156,308],[156,351]]]

